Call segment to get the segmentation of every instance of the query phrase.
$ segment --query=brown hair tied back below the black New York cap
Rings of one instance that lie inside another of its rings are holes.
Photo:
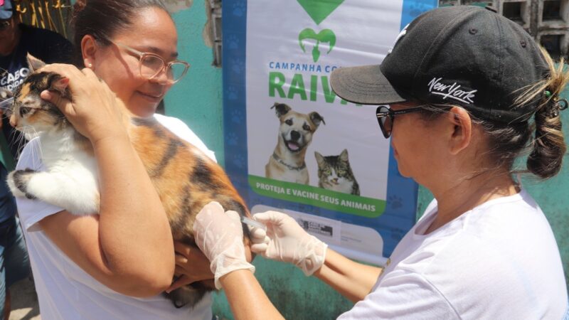
[[[488,138],[490,147],[486,155],[494,162],[492,168],[484,168],[481,172],[493,169],[507,169],[512,172],[514,161],[527,149],[531,149],[531,152],[526,163],[527,170],[523,172],[529,171],[539,178],[546,179],[555,176],[561,169],[567,147],[561,131],[560,110],[555,112],[554,109],[563,87],[569,80],[569,71],[563,71],[563,59],[555,67],[547,51],[543,48],[541,51],[549,66],[548,78],[525,88],[512,106],[515,108],[539,100],[533,123],[496,122],[481,119],[470,113],[472,122],[482,127]],[[546,91],[549,94],[546,94]],[[426,121],[435,119],[439,114],[447,112],[449,107],[452,106],[427,106],[425,112],[422,112],[422,119]],[[534,130],[535,139],[531,139]],[[473,174],[476,175],[478,172]]]

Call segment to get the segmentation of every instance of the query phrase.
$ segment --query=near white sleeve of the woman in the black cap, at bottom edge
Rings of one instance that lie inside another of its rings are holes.
[[[420,274],[394,270],[338,319],[460,319],[447,299]]]

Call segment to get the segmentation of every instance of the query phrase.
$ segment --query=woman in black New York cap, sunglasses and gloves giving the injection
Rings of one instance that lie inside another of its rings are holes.
[[[470,6],[423,14],[381,65],[341,68],[331,85],[345,100],[389,105],[377,110],[381,131],[392,138],[400,174],[435,195],[425,214],[383,270],[326,250],[274,211],[254,216],[267,231],[252,230],[252,250],[292,262],[357,302],[341,319],[569,316],[551,228],[512,176],[526,148],[528,172],[558,174],[565,154],[560,112],[568,106],[559,95],[568,79],[563,63],[556,68],[518,24],[498,14]],[[245,260],[240,228],[230,223],[231,215],[211,204],[193,227],[214,273]],[[218,233],[225,237],[211,236]],[[219,280],[237,319],[280,316],[250,271]]]

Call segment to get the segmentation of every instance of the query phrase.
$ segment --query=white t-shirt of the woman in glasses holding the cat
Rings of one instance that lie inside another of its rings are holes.
[[[201,149],[213,160],[215,155],[181,122],[156,114],[156,119],[182,139]],[[16,169],[45,170],[38,139],[23,149]],[[119,294],[101,284],[69,259],[39,228],[38,222],[62,208],[41,201],[16,198],[18,213],[26,238],[28,255],[40,305],[41,318],[51,319],[211,319],[211,294],[206,294],[193,308],[176,309],[163,295],[135,298]]]

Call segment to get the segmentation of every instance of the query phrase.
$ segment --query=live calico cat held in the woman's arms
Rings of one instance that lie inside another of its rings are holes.
[[[11,123],[27,139],[39,137],[46,171],[13,171],[8,183],[14,196],[37,198],[81,215],[99,211],[97,165],[89,140],[79,134],[58,107],[41,100],[43,90],[56,90],[65,97],[70,91],[56,73],[41,71],[43,62],[28,56],[31,74],[14,92]],[[198,148],[180,139],[154,117],[134,117],[122,101],[125,126],[134,149],[142,159],[168,215],[174,240],[195,245],[194,219],[207,203],[218,201],[226,210],[250,216],[228,176]],[[248,228],[243,228],[248,235]],[[248,243],[248,238],[245,239]],[[215,289],[213,282],[197,282],[166,294],[181,307],[195,305]]]

